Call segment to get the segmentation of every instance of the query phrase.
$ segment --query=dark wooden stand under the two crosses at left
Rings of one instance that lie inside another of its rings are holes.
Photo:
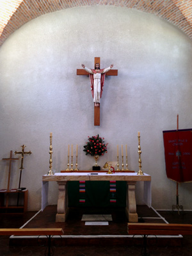
[[[20,204],[17,205],[17,198]],[[14,205],[10,202],[15,202]],[[24,213],[28,211],[28,189],[18,191],[17,189],[0,190],[0,212],[1,213]]]

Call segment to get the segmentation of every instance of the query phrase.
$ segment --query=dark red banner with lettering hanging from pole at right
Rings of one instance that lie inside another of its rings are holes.
[[[164,158],[168,179],[192,181],[192,129],[163,131]]]

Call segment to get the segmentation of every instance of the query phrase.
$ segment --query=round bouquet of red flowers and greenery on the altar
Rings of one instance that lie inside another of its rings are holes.
[[[104,138],[99,137],[99,134],[96,136],[88,136],[88,142],[84,145],[84,152],[86,155],[90,154],[91,156],[103,156],[104,153],[108,153],[107,150],[108,143],[104,143]]]

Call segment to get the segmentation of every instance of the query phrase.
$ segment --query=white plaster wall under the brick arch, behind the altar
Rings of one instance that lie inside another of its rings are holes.
[[[100,127],[93,125],[89,78],[76,76],[81,63],[111,63],[117,77],[107,77],[100,107]],[[91,170],[85,156],[87,136],[109,143],[102,166],[116,159],[116,145],[128,145],[129,169],[138,171],[138,131],[142,170],[152,175],[152,205],[171,209],[176,184],[165,172],[163,132],[192,128],[192,42],[179,29],[154,15],[115,6],[71,8],[31,20],[0,49],[0,159],[26,145],[21,186],[29,189],[29,210],[41,206],[42,175],[49,170],[52,132],[53,169],[67,167],[67,145],[79,145],[79,168]],[[75,147],[75,146],[74,146]],[[15,156],[16,157],[16,156]],[[8,163],[0,161],[0,188],[6,188]],[[19,184],[20,161],[12,164],[11,188]],[[49,204],[57,202],[57,184],[49,186]],[[179,186],[179,203],[192,209],[191,184]],[[137,200],[142,204],[142,185]]]

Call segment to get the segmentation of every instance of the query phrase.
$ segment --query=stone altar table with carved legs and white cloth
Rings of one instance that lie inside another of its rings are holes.
[[[68,214],[68,181],[76,180],[122,180],[127,183],[126,190],[126,207],[125,212],[129,222],[138,222],[138,214],[136,212],[136,196],[135,187],[136,182],[144,182],[143,201],[148,207],[151,206],[151,176],[144,173],[144,175],[137,175],[137,173],[123,173],[116,172],[114,174],[107,174],[106,172],[85,173],[85,172],[69,172],[69,173],[55,173],[54,175],[44,175],[42,177],[42,211],[48,204],[47,195],[49,189],[49,182],[56,181],[58,183],[58,205],[56,222],[65,222]]]

